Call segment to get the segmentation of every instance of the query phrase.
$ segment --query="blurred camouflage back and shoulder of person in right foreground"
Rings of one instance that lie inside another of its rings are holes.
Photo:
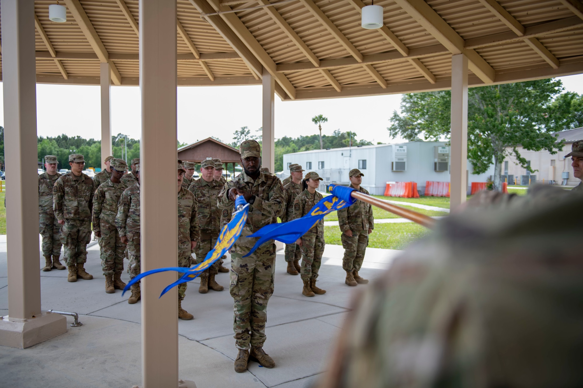
[[[320,388],[583,386],[583,193],[483,192],[355,301]]]

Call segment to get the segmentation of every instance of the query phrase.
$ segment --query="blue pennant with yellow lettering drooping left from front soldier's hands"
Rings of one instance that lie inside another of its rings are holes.
[[[153,270],[146,271],[144,273],[139,274],[135,278],[133,278],[129,283],[125,286],[124,292],[122,292],[122,296],[124,296],[125,291],[128,291],[132,284],[138,283],[143,277],[151,275],[153,273],[159,273],[164,271],[177,271],[182,273],[182,276],[178,278],[172,284],[168,284],[166,288],[160,294],[160,297],[168,290],[171,290],[172,287],[177,286],[181,283],[186,283],[187,281],[191,281],[203,273],[205,270],[209,269],[213,263],[223,257],[223,255],[229,251],[231,246],[233,246],[234,242],[237,241],[237,238],[241,235],[241,231],[243,231],[243,226],[245,222],[247,222],[247,213],[249,211],[249,204],[245,202],[245,199],[242,195],[238,196],[235,200],[235,209],[237,211],[233,213],[233,218],[229,224],[224,225],[223,230],[219,234],[219,239],[215,244],[215,247],[206,254],[205,260],[202,263],[196,264],[194,267],[165,267],[165,268],[157,268]]]

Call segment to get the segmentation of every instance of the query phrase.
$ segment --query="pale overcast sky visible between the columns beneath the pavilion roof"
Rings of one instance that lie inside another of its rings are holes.
[[[583,94],[583,75],[561,77],[566,90]],[[2,83],[0,83],[0,88]],[[139,139],[139,87],[111,87],[111,133]],[[0,93],[0,100],[2,93]],[[322,114],[328,122],[322,134],[352,130],[357,139],[391,142],[388,119],[399,109],[401,94],[329,100],[286,101],[275,97],[275,137],[318,133],[311,118]],[[0,125],[4,114],[0,104]],[[216,136],[231,142],[233,132],[261,127],[261,86],[178,87],[178,140],[196,142]],[[99,86],[37,85],[39,136],[101,136]]]

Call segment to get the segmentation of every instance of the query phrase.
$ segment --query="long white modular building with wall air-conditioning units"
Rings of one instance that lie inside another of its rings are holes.
[[[377,144],[327,150],[311,150],[285,154],[282,177],[289,176],[291,163],[305,171],[315,171],[323,184],[349,184],[348,172],[358,168],[363,174],[362,186],[373,195],[382,195],[387,182],[416,182],[423,194],[426,181],[449,182],[449,146],[446,142],[407,142]],[[484,174],[472,174],[468,162],[468,190],[472,182],[486,182],[493,177],[492,165]]]

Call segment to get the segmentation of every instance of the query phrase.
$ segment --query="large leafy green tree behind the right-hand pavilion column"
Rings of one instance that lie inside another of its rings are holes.
[[[554,154],[562,144],[549,126],[550,105],[562,90],[560,80],[545,79],[473,87],[468,91],[468,160],[475,174],[494,164],[494,188],[501,188],[504,158],[515,156],[533,172],[517,146]],[[405,94],[402,114],[396,111],[387,128],[393,137],[407,140],[442,140],[450,135],[451,92]]]

